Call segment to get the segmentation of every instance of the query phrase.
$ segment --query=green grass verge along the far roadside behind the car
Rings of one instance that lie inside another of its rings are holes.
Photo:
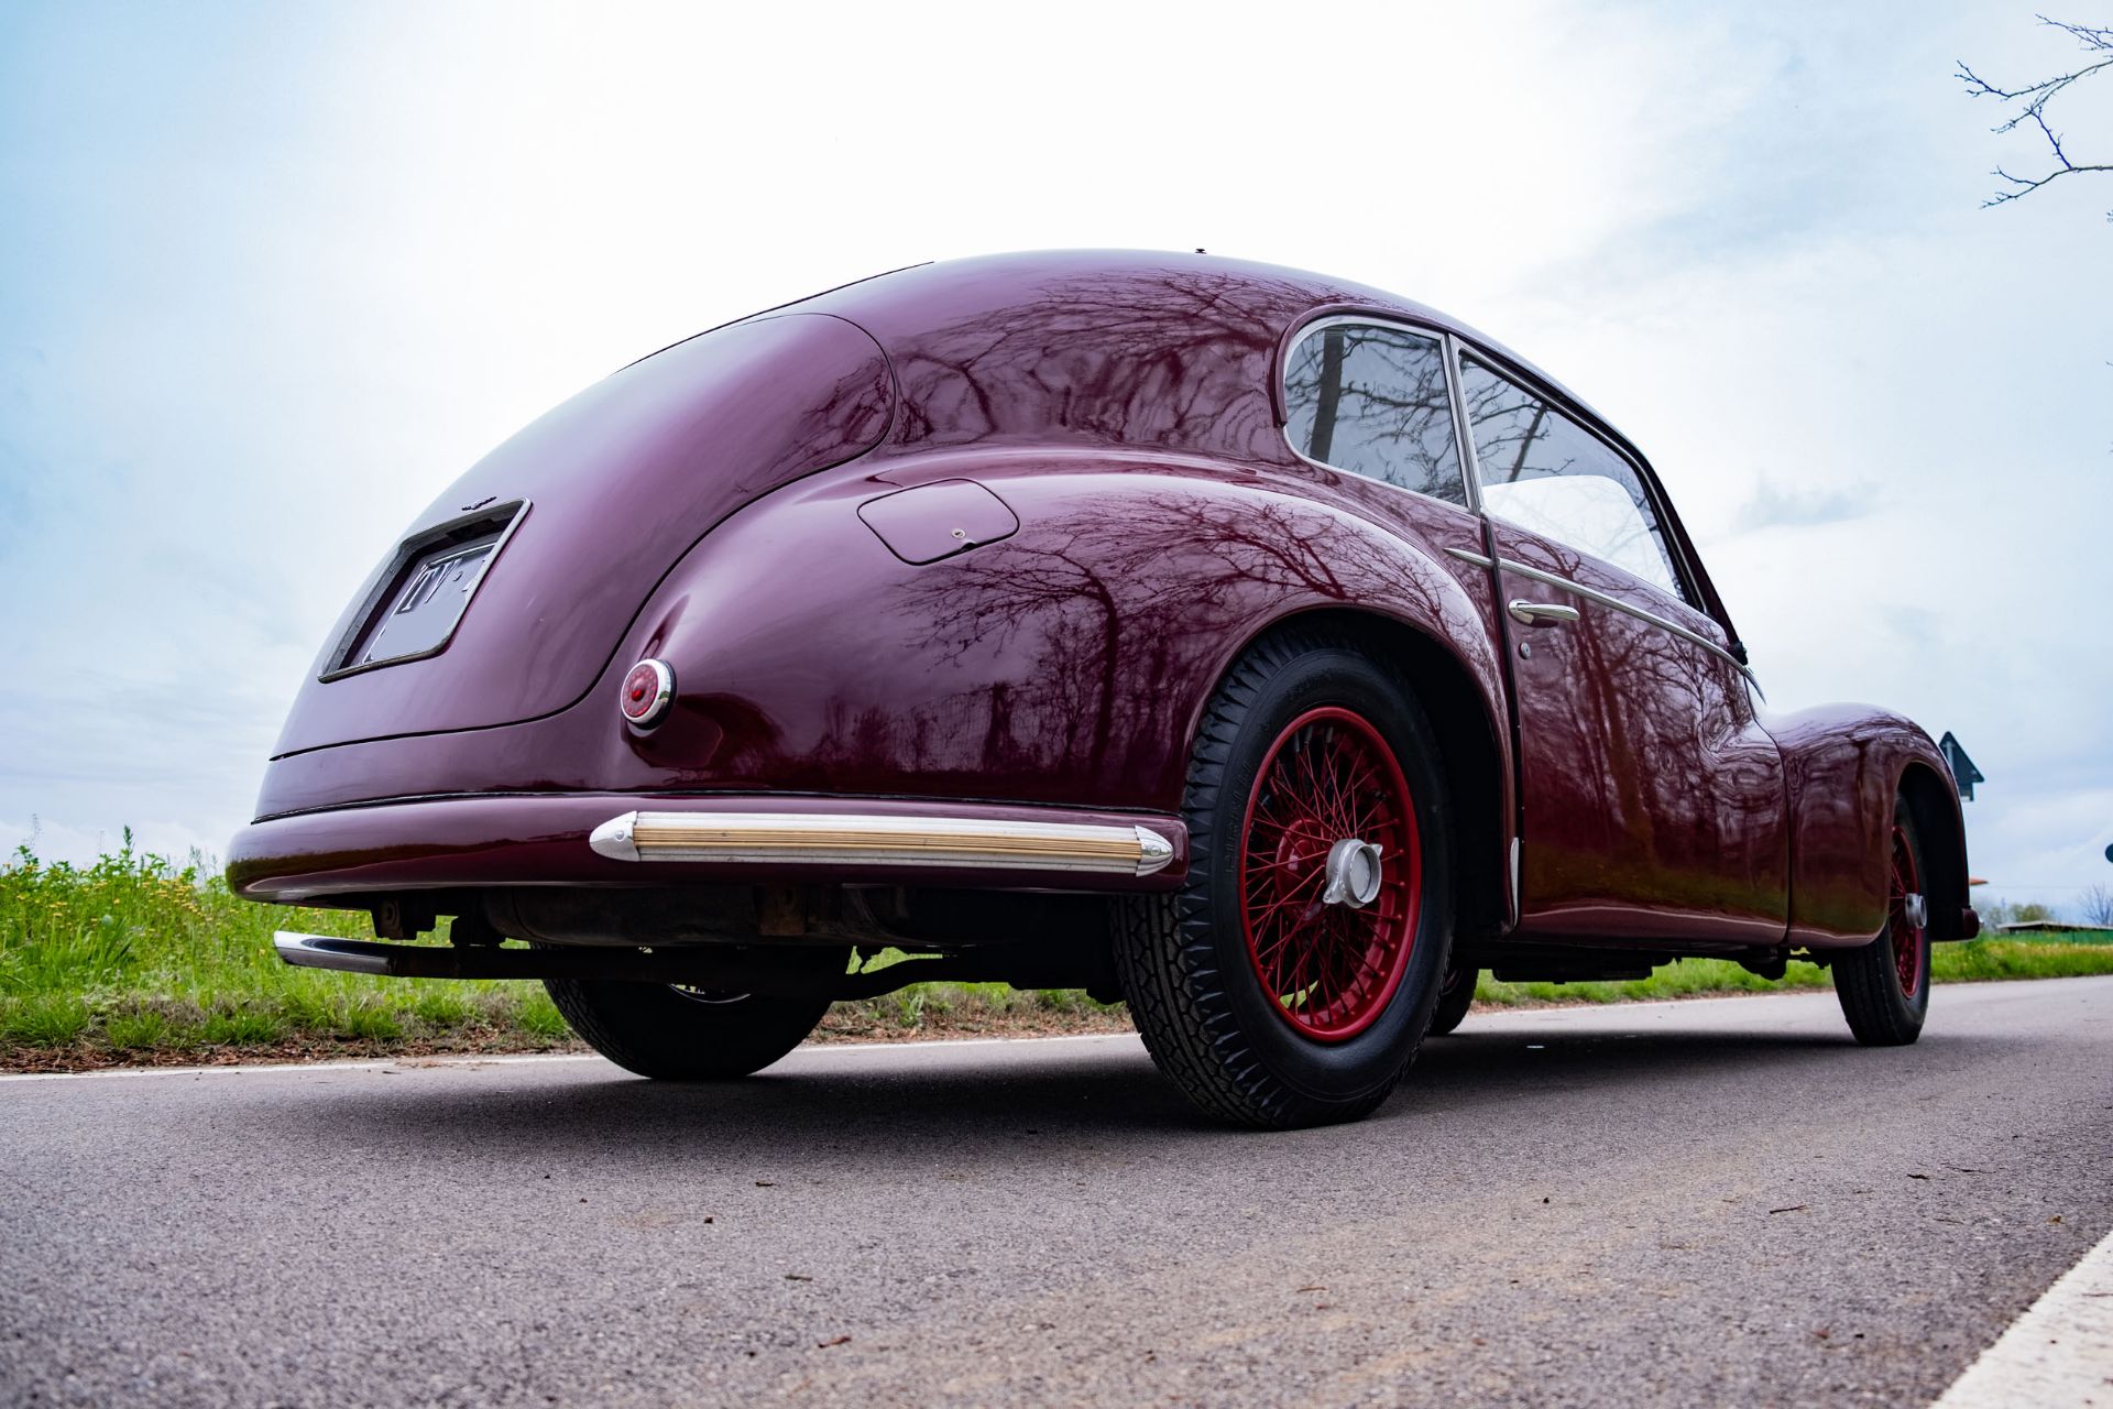
[[[218,872],[139,853],[129,832],[120,851],[93,866],[46,864],[19,849],[0,866],[0,1067],[571,1044],[539,984],[294,970],[273,953],[273,929],[366,938],[368,917],[237,900]],[[2069,974],[2113,974],[2113,932],[1976,940],[1936,955],[1940,982]],[[1788,978],[1769,982],[1735,963],[1686,959],[1635,982],[1500,984],[1485,976],[1475,997],[1612,1003],[1800,987],[1824,989],[1828,976],[1792,963]],[[837,1003],[822,1035],[1109,1031],[1122,1022],[1120,1006],[1084,993],[936,982]]]

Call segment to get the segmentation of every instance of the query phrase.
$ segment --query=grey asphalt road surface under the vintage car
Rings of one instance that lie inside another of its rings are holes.
[[[2113,978],[1473,1016],[1297,1134],[1128,1037],[0,1082],[0,1398],[1921,1405],[2109,1170]]]

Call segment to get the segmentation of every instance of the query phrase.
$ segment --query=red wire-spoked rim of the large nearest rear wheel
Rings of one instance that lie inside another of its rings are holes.
[[[1327,904],[1338,841],[1380,847],[1378,894]],[[1422,847],[1395,750],[1350,710],[1308,710],[1276,735],[1240,826],[1240,932],[1276,1014],[1342,1041],[1371,1027],[1416,944]]]

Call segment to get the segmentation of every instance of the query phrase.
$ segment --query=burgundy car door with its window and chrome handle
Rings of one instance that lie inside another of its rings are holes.
[[[1460,399],[1511,617],[1519,932],[1779,942],[1783,763],[1728,636],[1690,606],[1644,473],[1471,355]]]

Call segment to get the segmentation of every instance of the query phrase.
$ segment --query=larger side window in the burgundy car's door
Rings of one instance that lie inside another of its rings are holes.
[[[1460,395],[1475,431],[1483,509],[1686,600],[1659,515],[1625,458],[1469,357],[1460,359]]]

